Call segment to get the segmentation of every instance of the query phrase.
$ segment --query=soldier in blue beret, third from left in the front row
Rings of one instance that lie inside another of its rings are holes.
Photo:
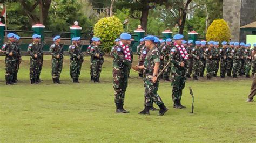
[[[63,67],[63,46],[60,45],[60,36],[57,35],[53,38],[53,44],[49,48],[49,52],[52,55],[52,71],[51,76],[54,84],[60,84],[60,74]]]

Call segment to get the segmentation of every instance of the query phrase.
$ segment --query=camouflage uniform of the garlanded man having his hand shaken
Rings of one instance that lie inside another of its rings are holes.
[[[124,49],[120,45],[114,46],[113,58],[114,103],[120,108],[124,105],[128,85],[128,67],[131,66],[131,62],[125,59]]]

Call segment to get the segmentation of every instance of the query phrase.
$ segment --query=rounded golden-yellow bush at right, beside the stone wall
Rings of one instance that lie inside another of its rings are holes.
[[[228,41],[230,39],[230,27],[223,19],[216,19],[208,27],[206,34],[207,41]]]

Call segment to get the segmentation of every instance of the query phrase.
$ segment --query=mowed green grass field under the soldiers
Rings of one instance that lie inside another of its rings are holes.
[[[173,109],[171,83],[160,81],[158,90],[169,111],[158,116],[138,115],[144,108],[144,87],[131,71],[125,96],[128,114],[116,114],[112,88],[112,58],[105,58],[101,83],[89,78],[89,57],[85,58],[80,84],[69,77],[65,56],[63,84],[51,80],[51,57],[45,56],[43,82],[29,82],[29,57],[23,57],[17,85],[5,86],[4,57],[0,57],[0,141],[1,142],[254,142],[256,104],[246,103],[252,79],[200,80],[186,82],[182,103],[187,109]],[[137,59],[135,56],[134,59]],[[136,62],[136,61],[135,61]],[[195,114],[190,114],[195,96]],[[156,106],[156,105],[154,105]],[[157,106],[156,106],[157,107]],[[158,108],[158,107],[157,107]]]

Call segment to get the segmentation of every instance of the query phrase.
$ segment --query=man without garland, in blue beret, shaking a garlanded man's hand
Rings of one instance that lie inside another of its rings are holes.
[[[150,108],[153,106],[153,102],[156,103],[159,108],[159,115],[164,115],[168,109],[165,107],[163,101],[160,96],[157,94],[159,79],[157,78],[157,74],[159,71],[160,65],[160,52],[156,47],[156,42],[158,38],[154,36],[145,37],[145,46],[149,50],[146,55],[144,65],[137,66],[138,69],[145,69],[145,78],[144,78],[144,110],[140,111],[139,114],[149,115]]]

